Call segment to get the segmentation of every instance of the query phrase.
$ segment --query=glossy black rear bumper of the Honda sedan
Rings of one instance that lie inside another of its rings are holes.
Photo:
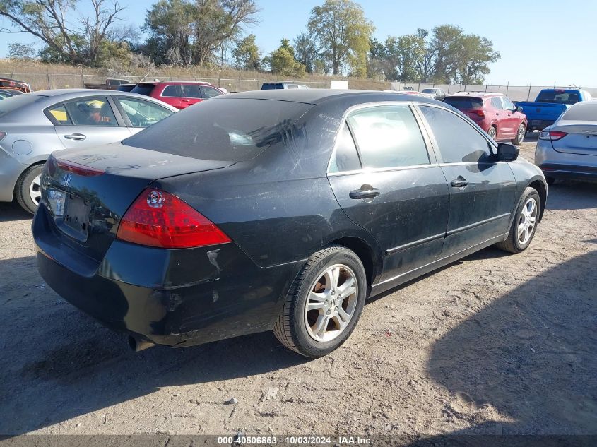
[[[54,291],[105,326],[158,345],[271,329],[300,268],[260,268],[233,243],[165,250],[117,240],[97,263],[60,242],[43,204],[32,230],[37,268]]]

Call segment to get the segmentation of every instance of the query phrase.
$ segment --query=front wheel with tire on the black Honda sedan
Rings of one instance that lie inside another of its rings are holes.
[[[541,201],[539,193],[534,188],[527,188],[522,193],[516,214],[512,220],[512,227],[505,241],[495,244],[498,249],[510,253],[520,253],[531,244],[537,224],[539,222]]]

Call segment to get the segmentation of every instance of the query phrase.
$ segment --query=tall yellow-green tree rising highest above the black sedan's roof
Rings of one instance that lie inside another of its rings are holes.
[[[318,52],[334,75],[345,67],[354,76],[367,74],[367,52],[374,30],[359,4],[350,0],[326,0],[311,11],[309,34],[317,40]]]

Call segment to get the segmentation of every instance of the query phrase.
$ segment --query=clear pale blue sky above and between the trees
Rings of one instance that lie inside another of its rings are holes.
[[[79,0],[85,13],[88,0]],[[280,39],[293,40],[307,28],[309,13],[324,0],[256,0],[261,11],[258,25],[244,29],[256,35],[264,54],[278,47]],[[468,34],[487,37],[502,58],[491,64],[490,85],[577,85],[597,87],[597,1],[533,0],[487,3],[483,1],[358,1],[375,26],[374,37],[385,40],[431,30],[437,25],[459,25]],[[120,0],[126,6],[124,23],[143,25],[148,0]],[[425,6],[420,6],[425,4]],[[0,28],[10,28],[0,19]],[[27,34],[0,34],[0,57],[8,43],[36,44]],[[37,43],[37,48],[41,44]]]

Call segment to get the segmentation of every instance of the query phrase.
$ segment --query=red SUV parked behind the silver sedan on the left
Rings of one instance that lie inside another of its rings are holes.
[[[206,82],[153,81],[137,83],[132,93],[155,97],[177,109],[184,109],[196,102],[207,100],[225,92]]]

